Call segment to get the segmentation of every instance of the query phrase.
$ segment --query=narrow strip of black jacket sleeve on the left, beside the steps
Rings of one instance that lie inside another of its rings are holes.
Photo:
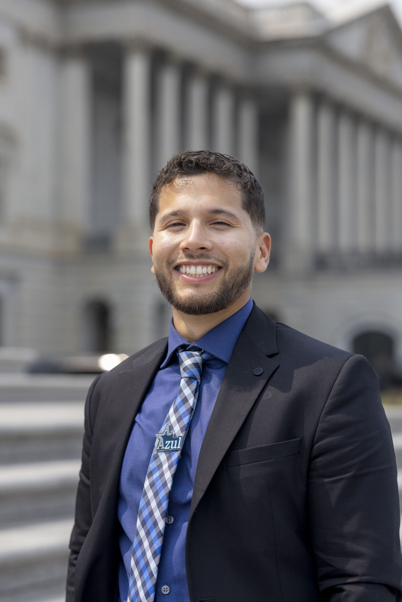
[[[71,533],[70,545],[71,550],[67,586],[66,586],[66,602],[74,602],[74,574],[75,564],[77,563],[78,554],[85,541],[89,528],[92,524],[92,510],[90,500],[90,476],[89,476],[89,460],[92,444],[92,425],[90,420],[90,403],[93,390],[98,382],[101,374],[93,381],[87,394],[85,402],[85,418],[84,418],[84,439],[83,452],[80,470],[80,480],[78,482],[77,500],[75,502],[75,521]]]

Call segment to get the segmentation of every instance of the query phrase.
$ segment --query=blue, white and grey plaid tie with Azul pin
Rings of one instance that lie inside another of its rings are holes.
[[[186,351],[181,347],[177,355],[181,372],[180,389],[162,429],[156,435],[146,473],[133,542],[127,602],[154,601],[173,477],[197,402],[203,362],[212,358],[205,351]]]

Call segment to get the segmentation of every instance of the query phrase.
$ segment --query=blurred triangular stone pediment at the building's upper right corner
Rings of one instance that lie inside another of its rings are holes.
[[[324,40],[339,54],[402,87],[402,31],[388,5],[330,29]]]

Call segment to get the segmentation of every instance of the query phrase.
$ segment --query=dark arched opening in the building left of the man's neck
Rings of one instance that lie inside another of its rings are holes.
[[[86,351],[105,353],[110,351],[110,308],[104,301],[92,300],[84,308]]]

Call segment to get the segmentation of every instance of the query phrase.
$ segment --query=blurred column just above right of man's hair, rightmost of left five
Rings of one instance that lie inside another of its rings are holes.
[[[243,96],[239,102],[239,159],[259,175],[259,108],[257,102]]]

